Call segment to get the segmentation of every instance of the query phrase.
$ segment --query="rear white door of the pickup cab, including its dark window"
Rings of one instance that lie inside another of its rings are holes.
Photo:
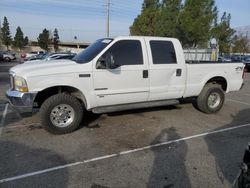
[[[177,57],[173,41],[147,38],[146,45],[149,54],[149,100],[182,97],[185,89],[185,64],[182,56]]]

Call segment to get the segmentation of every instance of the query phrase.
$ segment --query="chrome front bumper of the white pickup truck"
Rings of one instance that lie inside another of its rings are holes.
[[[23,117],[32,115],[33,102],[36,95],[37,92],[22,93],[14,90],[8,90],[6,92],[6,97],[11,107]]]

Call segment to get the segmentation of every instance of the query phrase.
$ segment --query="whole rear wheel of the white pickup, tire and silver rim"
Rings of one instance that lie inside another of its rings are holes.
[[[211,102],[212,97],[215,97],[215,99]],[[224,100],[225,95],[221,86],[219,84],[208,83],[197,97],[195,106],[204,113],[216,113],[222,108]]]

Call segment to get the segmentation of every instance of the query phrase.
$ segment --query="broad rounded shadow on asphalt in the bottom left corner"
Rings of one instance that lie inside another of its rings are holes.
[[[67,162],[57,153],[42,149],[31,148],[19,143],[1,141],[0,147],[0,179],[31,173],[47,168],[65,165]],[[34,175],[19,180],[4,182],[4,187],[68,187],[68,171],[59,171]]]

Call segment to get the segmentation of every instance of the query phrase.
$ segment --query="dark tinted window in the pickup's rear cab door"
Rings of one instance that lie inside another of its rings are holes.
[[[175,49],[170,41],[150,41],[153,64],[177,63]]]

